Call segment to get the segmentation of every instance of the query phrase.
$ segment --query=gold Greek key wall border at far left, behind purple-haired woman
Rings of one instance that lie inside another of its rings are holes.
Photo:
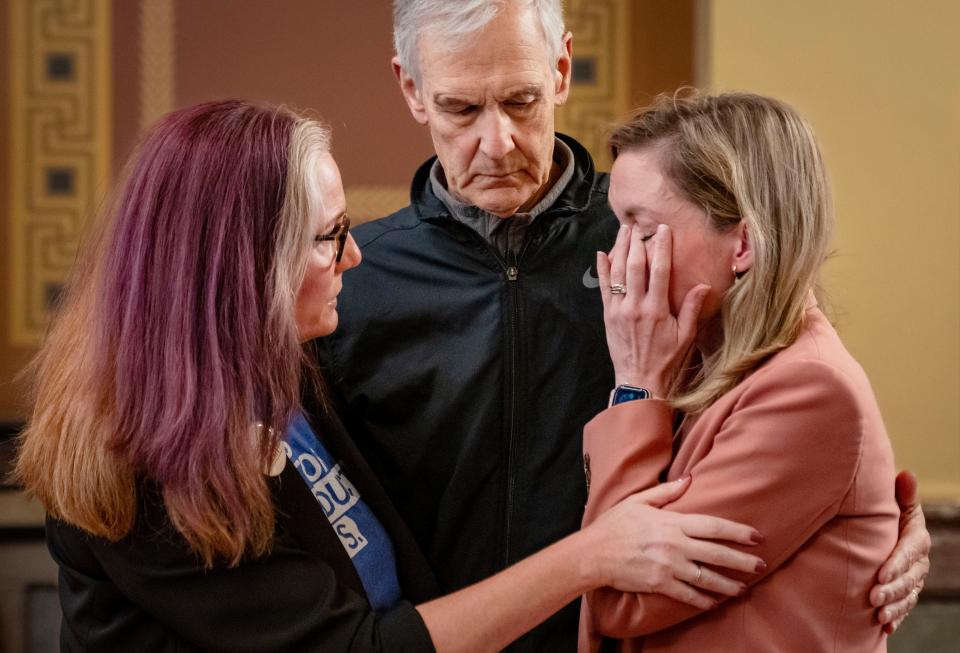
[[[8,0],[10,339],[35,346],[110,173],[109,0]]]

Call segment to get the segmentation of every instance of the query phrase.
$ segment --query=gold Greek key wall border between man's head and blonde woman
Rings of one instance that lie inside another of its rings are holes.
[[[567,0],[564,17],[573,33],[573,82],[557,112],[557,130],[580,141],[597,167],[609,170],[607,135],[629,110],[630,3]]]

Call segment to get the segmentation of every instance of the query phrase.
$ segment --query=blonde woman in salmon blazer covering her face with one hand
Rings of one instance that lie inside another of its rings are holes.
[[[868,593],[897,541],[893,453],[818,307],[832,209],[809,126],[756,95],[662,97],[611,145],[622,226],[597,266],[617,388],[584,431],[583,523],[691,476],[665,509],[754,526],[765,565],[688,564],[696,607],[590,592],[581,651],[885,650]]]

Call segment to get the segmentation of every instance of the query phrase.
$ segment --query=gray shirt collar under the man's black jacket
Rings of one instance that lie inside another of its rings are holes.
[[[434,195],[443,202],[455,220],[483,236],[504,256],[507,252],[513,252],[516,255],[520,253],[520,248],[526,240],[527,230],[534,219],[557,201],[573,178],[575,169],[573,150],[559,138],[554,140],[553,160],[562,172],[547,194],[529,211],[514,213],[506,218],[484,211],[477,206],[464,204],[451,195],[447,190],[446,178],[439,160],[434,162],[430,170],[430,184]]]

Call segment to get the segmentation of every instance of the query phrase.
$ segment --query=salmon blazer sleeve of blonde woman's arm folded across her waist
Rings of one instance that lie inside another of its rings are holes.
[[[750,585],[775,571],[836,515],[859,466],[863,428],[857,388],[820,361],[762,369],[744,384],[731,411],[718,419],[709,453],[688,470],[689,489],[664,508],[760,531],[765,537],[760,546],[733,546],[763,558],[766,571],[722,570]],[[701,612],[659,594],[609,588],[589,593],[587,601],[594,627],[615,637],[661,630]]]

